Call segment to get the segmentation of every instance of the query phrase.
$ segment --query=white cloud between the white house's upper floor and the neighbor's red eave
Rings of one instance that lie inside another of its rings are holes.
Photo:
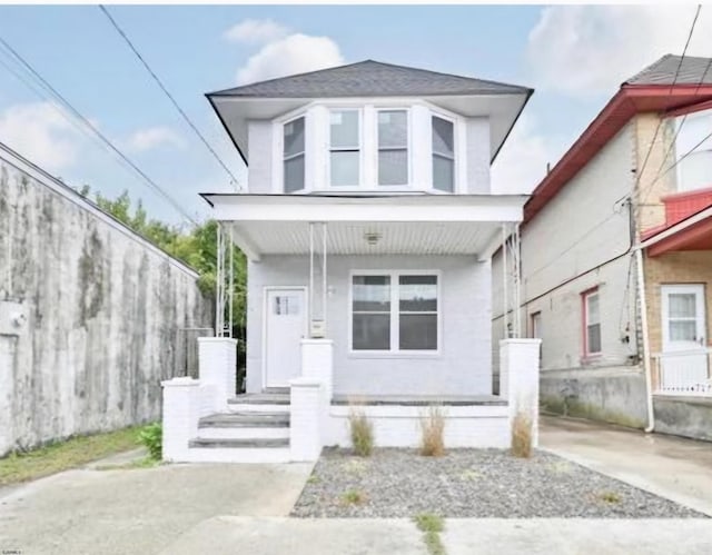
[[[553,149],[535,127],[526,115],[516,122],[492,166],[493,192],[528,195],[546,175]]]

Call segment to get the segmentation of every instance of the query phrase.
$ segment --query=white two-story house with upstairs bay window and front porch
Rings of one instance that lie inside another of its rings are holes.
[[[446,405],[451,446],[508,445],[506,396],[492,395],[491,256],[526,198],[493,195],[490,166],[531,93],[368,60],[208,95],[249,165],[247,194],[204,195],[248,258],[247,396],[231,405],[248,414],[204,419],[192,449],[186,428],[169,458],[313,458],[348,444],[354,399],[382,446],[417,445],[431,403]],[[221,348],[202,345],[206,357]],[[507,356],[536,371],[536,356],[528,366]],[[212,406],[224,412],[225,378],[216,380]],[[512,377],[507,393],[525,403],[532,392]],[[194,386],[167,395],[184,387]],[[324,412],[304,408],[314,387]],[[265,406],[275,429],[263,419],[249,435]],[[322,423],[306,438],[305,414]],[[216,422],[241,433],[217,434]],[[215,449],[256,445],[281,450]]]

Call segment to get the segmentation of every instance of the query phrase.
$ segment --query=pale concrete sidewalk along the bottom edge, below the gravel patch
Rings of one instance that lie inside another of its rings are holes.
[[[452,518],[447,555],[709,555],[708,519]],[[426,555],[406,518],[216,517],[180,536],[161,555]]]

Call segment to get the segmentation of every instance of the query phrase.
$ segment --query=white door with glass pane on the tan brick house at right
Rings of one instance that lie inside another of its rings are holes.
[[[708,379],[704,286],[662,286],[661,387],[669,393],[699,388]]]

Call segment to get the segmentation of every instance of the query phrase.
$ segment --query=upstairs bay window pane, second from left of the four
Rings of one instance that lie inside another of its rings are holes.
[[[360,184],[360,132],[358,110],[332,110],[329,167],[333,187]]]

